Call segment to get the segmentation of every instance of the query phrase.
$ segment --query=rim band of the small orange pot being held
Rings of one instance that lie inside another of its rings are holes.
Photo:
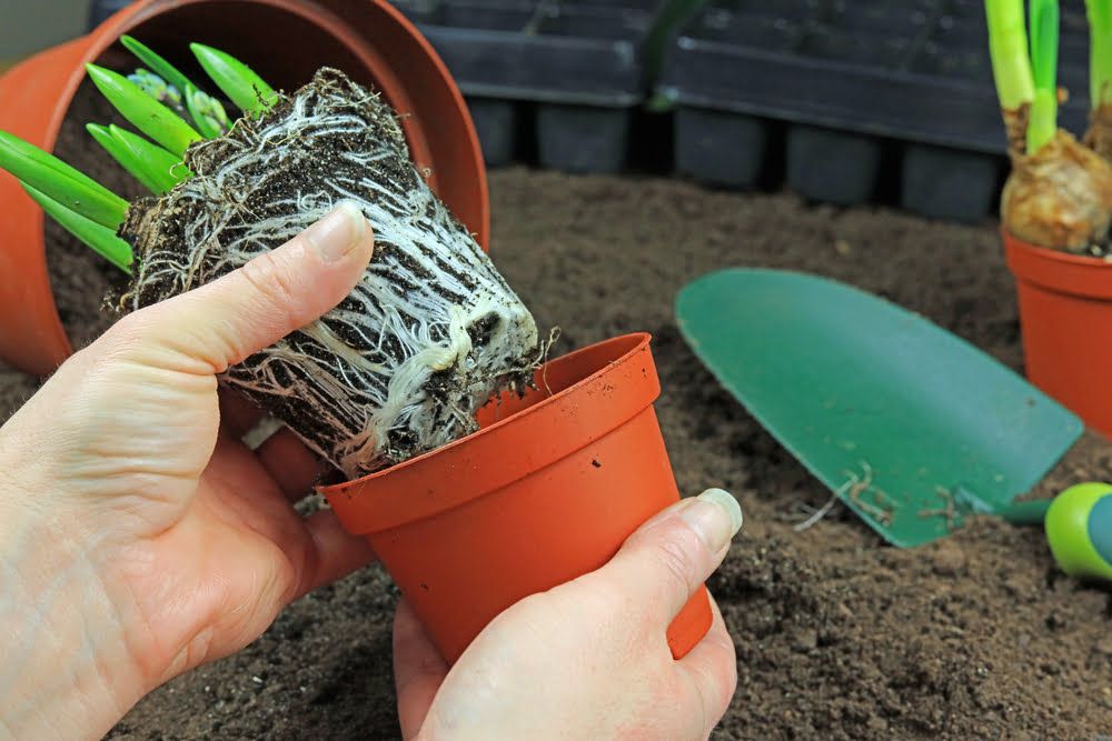
[[[328,499],[344,527],[360,535],[435,517],[494,493],[605,437],[652,407],[661,385],[651,341],[649,333],[634,332],[560,356],[545,367],[573,364],[612,348],[620,349],[620,354],[568,387],[477,432],[366,477],[318,487],[317,491]],[[638,357],[644,357],[643,363],[634,362]],[[580,407],[584,399],[579,397],[589,395],[596,388],[610,395],[594,407]],[[583,434],[545,437],[544,429],[558,427],[562,417],[573,419]],[[523,424],[539,428],[542,434],[529,435],[527,444],[515,444]],[[519,454],[506,455],[507,450]],[[492,465],[492,460],[498,464]]]

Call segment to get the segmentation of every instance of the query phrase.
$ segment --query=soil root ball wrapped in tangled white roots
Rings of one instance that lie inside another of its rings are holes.
[[[341,72],[319,71],[186,162],[196,178],[128,214],[126,311],[236,270],[341,200],[374,228],[375,257],[339,307],[221,379],[348,477],[471,432],[478,407],[532,378],[528,309],[410,162],[394,111]]]

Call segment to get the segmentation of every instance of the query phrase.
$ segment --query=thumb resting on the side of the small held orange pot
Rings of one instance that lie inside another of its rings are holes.
[[[722,563],[741,527],[737,500],[709,489],[642,525],[595,577],[668,623]]]

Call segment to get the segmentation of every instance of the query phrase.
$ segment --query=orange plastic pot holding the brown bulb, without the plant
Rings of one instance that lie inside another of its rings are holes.
[[[1002,230],[1015,277],[1026,375],[1112,435],[1112,262],[1023,242]]]

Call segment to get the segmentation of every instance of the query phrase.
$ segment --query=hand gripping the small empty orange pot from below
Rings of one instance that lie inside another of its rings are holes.
[[[679,661],[665,631],[722,563],[742,525],[721,490],[668,508],[605,567],[528,597],[448,671],[413,609],[394,623],[406,739],[706,739],[737,684],[734,643],[714,623]]]

